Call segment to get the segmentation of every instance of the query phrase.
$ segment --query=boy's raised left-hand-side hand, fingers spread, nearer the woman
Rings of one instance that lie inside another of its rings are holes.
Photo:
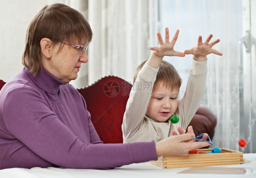
[[[180,57],[184,57],[185,54],[182,52],[178,52],[175,51],[173,49],[177,38],[179,35],[179,30],[176,31],[176,33],[174,34],[173,38],[171,39],[171,41],[169,42],[169,29],[165,28],[165,41],[163,42],[163,39],[161,37],[160,32],[157,33],[157,37],[158,37],[158,42],[159,45],[155,46],[155,47],[150,47],[150,50],[153,50],[154,53],[159,56],[159,57],[163,57],[163,56],[180,56]]]

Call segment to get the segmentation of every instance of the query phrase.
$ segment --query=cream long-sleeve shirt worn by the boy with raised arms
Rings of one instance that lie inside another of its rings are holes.
[[[157,122],[147,116],[147,106],[158,69],[145,63],[138,73],[124,113],[122,124],[124,143],[149,142],[152,140],[159,142],[172,136],[172,130],[177,132],[178,126],[185,130],[201,104],[206,90],[207,60],[197,62],[193,59],[185,94],[174,113],[179,117],[179,122],[173,124],[170,119],[166,122]]]

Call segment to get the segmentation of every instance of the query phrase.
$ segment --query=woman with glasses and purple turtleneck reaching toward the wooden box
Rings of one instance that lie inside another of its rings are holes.
[[[161,142],[103,144],[84,98],[67,84],[77,78],[92,39],[81,13],[45,6],[26,34],[24,69],[0,91],[0,169],[49,166],[112,169],[208,146],[189,133]]]

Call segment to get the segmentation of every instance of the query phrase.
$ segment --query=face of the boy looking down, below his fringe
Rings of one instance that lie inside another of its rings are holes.
[[[178,106],[179,89],[166,88],[162,82],[154,84],[147,107],[147,115],[158,122],[166,122]]]

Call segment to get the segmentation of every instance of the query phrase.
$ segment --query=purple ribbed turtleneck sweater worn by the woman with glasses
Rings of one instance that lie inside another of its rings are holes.
[[[154,142],[103,144],[84,98],[46,69],[24,68],[0,91],[0,169],[112,169],[157,160]]]

